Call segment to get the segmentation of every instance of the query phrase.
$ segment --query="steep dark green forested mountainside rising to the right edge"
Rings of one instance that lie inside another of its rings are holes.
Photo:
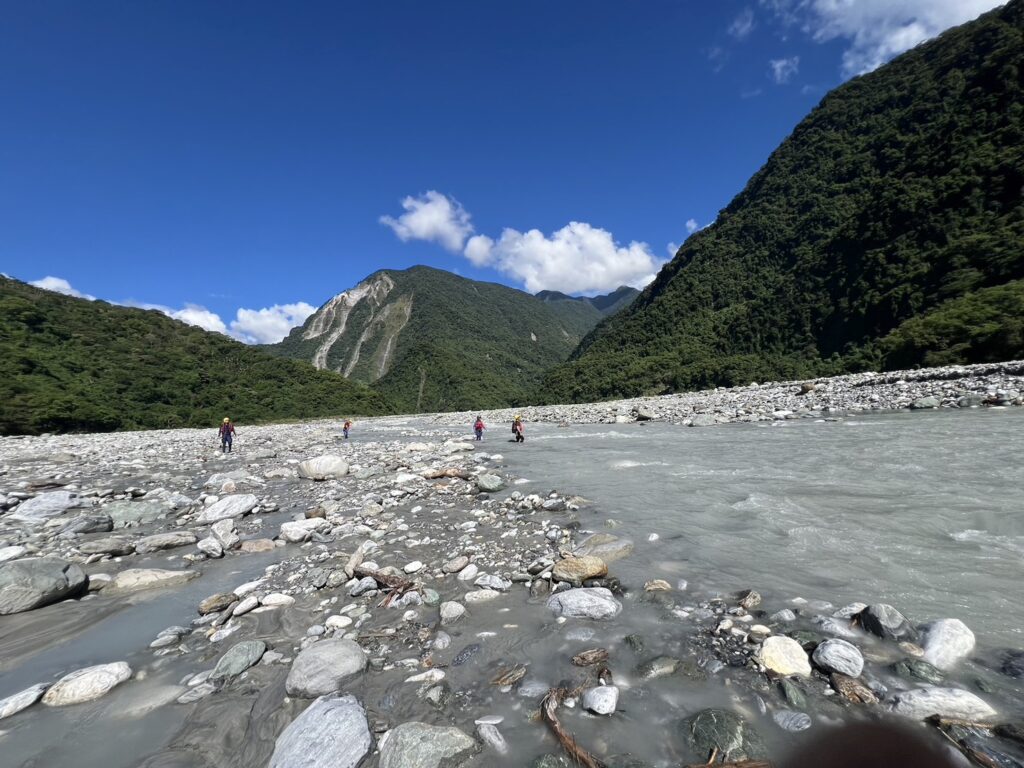
[[[835,89],[543,398],[1024,356],[1022,78],[1013,0]]]

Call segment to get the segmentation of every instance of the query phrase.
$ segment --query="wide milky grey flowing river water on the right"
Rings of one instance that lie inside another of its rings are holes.
[[[594,500],[595,529],[623,523],[631,582],[890,602],[1024,646],[1024,412],[536,425],[507,449],[515,471]]]

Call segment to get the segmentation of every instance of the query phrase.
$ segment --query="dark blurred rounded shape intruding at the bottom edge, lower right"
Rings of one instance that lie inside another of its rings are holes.
[[[955,768],[923,728],[856,723],[798,750],[779,768]]]

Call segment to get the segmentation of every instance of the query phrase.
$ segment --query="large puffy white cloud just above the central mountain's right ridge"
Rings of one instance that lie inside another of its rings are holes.
[[[474,238],[473,255],[467,253],[467,258],[514,278],[530,293],[593,293],[623,285],[643,288],[665,263],[646,243],[623,246],[611,232],[581,221],[570,222],[551,237],[539,229],[506,228],[497,241],[486,241]]]

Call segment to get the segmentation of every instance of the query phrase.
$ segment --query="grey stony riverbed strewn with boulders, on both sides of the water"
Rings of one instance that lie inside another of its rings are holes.
[[[1021,368],[522,413],[997,409],[1019,402]],[[632,531],[445,424],[469,422],[368,421],[347,442],[332,424],[243,425],[229,455],[213,430],[0,439],[5,759],[552,768],[573,764],[561,731],[584,764],[640,768],[779,760],[840,722],[938,715],[936,743],[1024,764],[1019,649],[912,605],[624,583]],[[118,748],[89,754],[83,729]]]

